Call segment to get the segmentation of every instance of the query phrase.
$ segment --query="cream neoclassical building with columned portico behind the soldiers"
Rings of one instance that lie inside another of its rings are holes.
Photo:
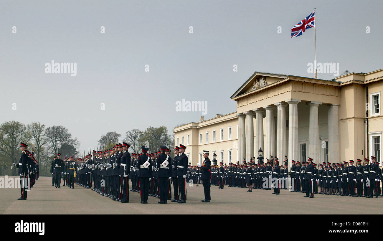
[[[237,110],[177,126],[192,165],[202,150],[228,164],[258,156],[302,161],[381,159],[383,69],[333,80],[255,72],[231,96]],[[212,159],[212,156],[211,158]]]

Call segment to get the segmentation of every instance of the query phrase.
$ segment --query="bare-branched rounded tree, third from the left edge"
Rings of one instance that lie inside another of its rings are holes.
[[[45,135],[49,153],[52,155],[56,155],[59,152],[61,145],[74,142],[74,139],[71,139],[72,134],[64,126],[50,126],[45,130]]]

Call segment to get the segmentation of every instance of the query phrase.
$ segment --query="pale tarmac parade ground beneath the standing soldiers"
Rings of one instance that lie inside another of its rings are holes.
[[[3,176],[2,176],[3,178]],[[131,187],[131,186],[129,186]],[[75,185],[74,189],[52,186],[51,177],[39,177],[28,192],[28,200],[19,201],[20,189],[0,189],[1,214],[376,214],[383,211],[383,198],[314,195],[281,190],[246,192],[247,189],[211,186],[211,202],[203,203],[203,185],[187,187],[184,204],[159,204],[149,197],[140,203],[140,194],[129,192],[129,203],[120,203],[91,189]],[[363,208],[368,207],[368,208]]]

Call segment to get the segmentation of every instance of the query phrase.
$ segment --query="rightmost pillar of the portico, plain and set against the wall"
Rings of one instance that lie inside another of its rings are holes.
[[[329,160],[339,162],[339,105],[327,106],[329,107]]]

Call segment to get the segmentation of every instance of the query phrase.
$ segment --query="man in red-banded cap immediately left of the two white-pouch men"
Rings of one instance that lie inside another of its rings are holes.
[[[121,194],[120,194],[120,200],[121,203],[128,203],[129,202],[129,172],[130,172],[130,153],[128,151],[129,144],[123,141],[123,145],[121,145],[121,150],[124,152],[121,152],[121,156],[117,155],[116,158],[117,164],[115,165],[117,169],[119,169],[119,174],[121,177]],[[118,162],[120,162],[120,165],[118,165]],[[149,187],[149,186],[148,186]],[[148,194],[149,194],[149,188],[148,188]]]

